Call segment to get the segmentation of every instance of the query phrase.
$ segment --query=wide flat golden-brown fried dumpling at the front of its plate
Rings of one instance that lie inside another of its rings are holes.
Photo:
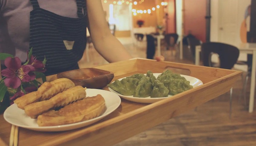
[[[39,126],[56,126],[90,120],[101,115],[105,110],[105,100],[98,94],[64,106],[55,111],[50,110],[37,117]]]

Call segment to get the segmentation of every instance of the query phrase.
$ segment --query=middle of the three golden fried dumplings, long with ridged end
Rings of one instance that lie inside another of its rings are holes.
[[[31,118],[36,118],[38,115],[49,109],[65,106],[85,97],[85,89],[82,86],[76,86],[63,91],[62,93],[58,93],[49,100],[28,104],[24,107],[24,110],[28,116]]]

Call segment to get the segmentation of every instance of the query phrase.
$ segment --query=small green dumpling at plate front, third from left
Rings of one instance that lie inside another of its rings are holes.
[[[168,93],[169,93],[169,90],[167,87],[164,86],[163,83],[161,83],[158,80],[154,81],[153,90],[150,93],[151,98],[167,97]]]

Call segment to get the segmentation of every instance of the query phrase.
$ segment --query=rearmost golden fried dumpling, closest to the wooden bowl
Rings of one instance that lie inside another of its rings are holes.
[[[63,92],[71,87],[75,87],[75,83],[66,78],[60,78],[51,82],[44,82],[37,91],[28,93],[14,100],[14,103],[21,109],[24,106],[52,98],[54,95]]]

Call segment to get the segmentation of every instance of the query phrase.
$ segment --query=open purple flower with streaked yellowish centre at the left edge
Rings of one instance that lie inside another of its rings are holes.
[[[28,73],[33,70],[33,66],[21,65],[21,60],[18,57],[7,57],[4,60],[4,65],[7,69],[2,70],[1,74],[6,77],[4,79],[5,86],[18,88],[21,85],[21,81],[31,81]]]

